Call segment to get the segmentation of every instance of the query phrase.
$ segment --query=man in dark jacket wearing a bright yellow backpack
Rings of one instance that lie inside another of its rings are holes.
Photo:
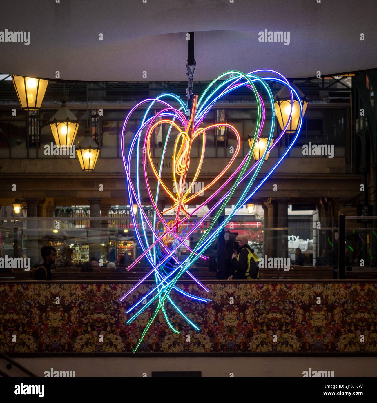
[[[248,245],[246,235],[237,235],[234,242],[235,253],[232,255],[232,272],[228,280],[257,280],[259,278],[258,256]]]

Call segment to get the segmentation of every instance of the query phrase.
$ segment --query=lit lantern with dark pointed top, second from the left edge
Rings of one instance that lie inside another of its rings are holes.
[[[62,106],[50,119],[50,127],[56,145],[69,147],[75,141],[79,121],[67,108],[67,94],[62,94],[60,101]]]

